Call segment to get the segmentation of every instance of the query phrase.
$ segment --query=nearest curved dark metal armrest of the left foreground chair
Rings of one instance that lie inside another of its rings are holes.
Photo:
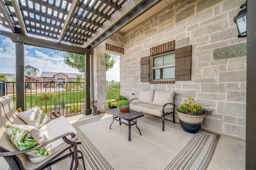
[[[28,149],[24,149],[24,150],[18,150],[18,151],[14,151],[14,152],[0,152],[0,156],[14,156],[14,155],[17,155],[17,154],[23,154],[25,152],[29,152],[31,150],[34,150],[34,149],[37,149],[37,148],[40,148],[50,142],[53,142],[54,140],[57,140],[59,138],[63,138],[63,140],[68,143],[68,144],[71,144],[71,145],[74,145],[74,144],[81,144],[81,142],[74,142],[72,140],[68,140],[68,138],[66,136],[68,135],[71,135],[72,138],[74,138],[76,136],[76,134],[74,134],[74,132],[68,132],[68,133],[65,133],[65,134],[62,134],[60,136],[57,136],[55,138],[52,138],[51,140],[47,140],[46,142],[40,144],[40,145],[37,145],[37,146],[34,146],[32,148],[28,148]]]

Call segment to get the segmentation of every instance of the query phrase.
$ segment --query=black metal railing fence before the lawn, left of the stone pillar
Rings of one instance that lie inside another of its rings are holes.
[[[16,83],[5,82],[5,95],[14,99],[16,105]],[[84,82],[25,82],[25,107],[23,111],[34,106],[40,107],[44,112],[59,111],[60,116],[72,116],[83,113],[85,105]],[[39,102],[36,96],[42,92],[54,92],[55,99]]]

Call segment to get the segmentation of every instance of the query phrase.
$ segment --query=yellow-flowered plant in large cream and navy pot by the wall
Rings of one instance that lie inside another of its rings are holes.
[[[180,120],[180,126],[188,133],[196,133],[201,129],[202,122],[204,120],[205,113],[202,111],[202,107],[196,104],[191,104],[194,99],[188,97],[188,103],[182,103],[177,109],[177,113]],[[185,100],[185,102],[187,102]]]

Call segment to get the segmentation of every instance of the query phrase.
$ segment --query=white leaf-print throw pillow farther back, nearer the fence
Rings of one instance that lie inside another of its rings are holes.
[[[22,119],[27,125],[40,128],[51,119],[42,111],[39,107],[34,107],[28,111],[15,113],[20,119]]]

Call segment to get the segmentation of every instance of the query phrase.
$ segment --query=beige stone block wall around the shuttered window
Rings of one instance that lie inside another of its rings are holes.
[[[174,90],[177,107],[191,96],[212,110],[203,128],[245,138],[246,38],[237,38],[233,20],[242,4],[240,0],[184,0],[127,32],[120,57],[121,94],[132,99],[140,89]],[[140,82],[140,58],[150,55],[150,47],[172,40],[176,48],[192,45],[191,81]]]

